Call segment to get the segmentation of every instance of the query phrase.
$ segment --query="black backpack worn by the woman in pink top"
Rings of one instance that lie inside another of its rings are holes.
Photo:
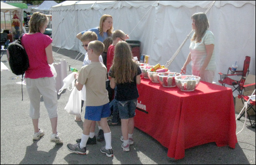
[[[24,34],[22,34],[18,40],[10,43],[7,47],[7,56],[10,68],[14,74],[22,75],[21,81],[23,81],[23,75],[29,67],[28,55],[23,46],[21,45],[21,37],[23,35]],[[23,100],[22,83],[21,92]]]

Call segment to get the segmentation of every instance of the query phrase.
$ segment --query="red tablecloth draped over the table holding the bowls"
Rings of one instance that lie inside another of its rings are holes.
[[[138,92],[135,127],[167,147],[168,157],[182,159],[185,149],[211,142],[235,148],[232,89],[201,81],[182,92],[142,78]]]

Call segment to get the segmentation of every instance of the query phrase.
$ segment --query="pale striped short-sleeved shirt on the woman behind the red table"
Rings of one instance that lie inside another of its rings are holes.
[[[189,50],[191,53],[192,70],[200,71],[207,55],[205,45],[210,45],[210,44],[215,45],[215,38],[213,33],[210,30],[206,30],[200,42],[196,42],[196,41],[190,42]],[[212,58],[205,70],[216,70],[214,51],[213,51]]]

